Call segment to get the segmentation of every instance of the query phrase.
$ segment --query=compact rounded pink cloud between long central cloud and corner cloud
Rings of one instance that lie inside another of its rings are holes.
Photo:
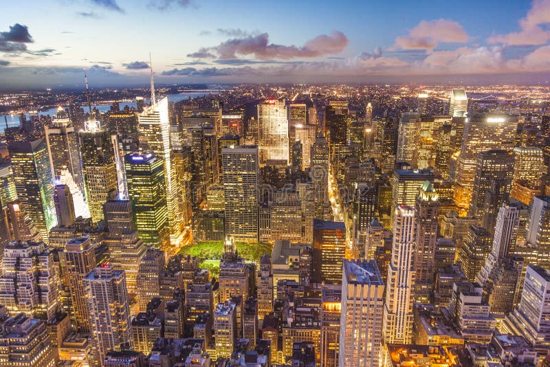
[[[462,25],[450,19],[421,21],[408,36],[395,38],[394,47],[401,49],[434,49],[439,43],[465,43],[468,35]]]

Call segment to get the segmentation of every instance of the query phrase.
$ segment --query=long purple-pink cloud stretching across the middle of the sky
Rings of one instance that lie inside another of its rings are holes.
[[[333,31],[331,34],[321,34],[306,41],[301,47],[277,45],[269,43],[267,33],[256,36],[245,36],[232,38],[214,47],[204,47],[189,57],[212,58],[217,56],[221,59],[237,58],[237,56],[253,56],[260,60],[281,58],[289,60],[292,58],[314,58],[318,56],[340,54],[349,44],[345,34]]]

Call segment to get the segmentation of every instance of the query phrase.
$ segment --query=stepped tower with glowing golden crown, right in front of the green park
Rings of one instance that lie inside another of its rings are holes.
[[[237,254],[234,241],[228,239],[223,247],[219,264],[219,300],[226,301],[232,296],[246,300],[250,296],[250,266]]]

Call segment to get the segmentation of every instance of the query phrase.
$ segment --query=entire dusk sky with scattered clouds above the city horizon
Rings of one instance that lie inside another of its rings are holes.
[[[547,83],[550,0],[1,0],[0,89]]]

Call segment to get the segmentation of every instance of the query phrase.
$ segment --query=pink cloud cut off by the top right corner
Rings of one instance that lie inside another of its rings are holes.
[[[550,1],[534,0],[525,18],[520,19],[520,31],[487,38],[489,43],[506,45],[544,45],[550,40]]]

